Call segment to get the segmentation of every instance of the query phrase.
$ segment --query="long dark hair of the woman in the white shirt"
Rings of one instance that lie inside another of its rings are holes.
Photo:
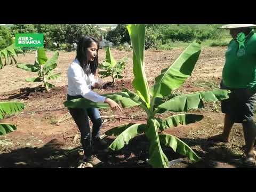
[[[90,47],[91,43],[95,42],[98,46],[97,49],[97,55],[93,61],[89,61],[87,58],[87,48]],[[89,36],[83,36],[79,39],[78,44],[77,44],[77,51],[76,51],[76,59],[79,61],[81,67],[83,69],[89,68],[90,65],[90,71],[86,71],[86,74],[89,75],[90,73],[95,74],[96,70],[99,65],[99,60],[98,60],[98,51],[99,51],[99,42]]]

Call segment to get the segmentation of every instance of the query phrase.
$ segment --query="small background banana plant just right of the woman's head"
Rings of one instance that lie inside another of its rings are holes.
[[[119,61],[116,61],[111,54],[110,47],[107,48],[106,51],[106,59],[101,63],[99,66],[100,69],[104,69],[104,71],[99,71],[99,74],[102,78],[111,76],[113,86],[116,85],[116,78],[122,79],[123,76],[121,75],[123,73],[125,62],[127,61],[127,57],[122,58]]]

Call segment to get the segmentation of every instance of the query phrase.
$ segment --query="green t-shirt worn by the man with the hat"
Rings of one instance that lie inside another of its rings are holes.
[[[252,30],[246,36],[245,49],[239,49],[239,43],[232,40],[226,52],[226,62],[222,71],[222,81],[227,87],[256,87],[256,34]]]

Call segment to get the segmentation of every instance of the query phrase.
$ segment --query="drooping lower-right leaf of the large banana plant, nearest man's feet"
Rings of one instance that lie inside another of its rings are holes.
[[[159,134],[161,145],[171,147],[175,152],[187,156],[190,161],[199,161],[200,157],[183,141],[170,134]]]

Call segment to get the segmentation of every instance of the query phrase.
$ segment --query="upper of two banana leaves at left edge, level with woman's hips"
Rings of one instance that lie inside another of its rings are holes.
[[[4,118],[4,115],[12,115],[25,109],[25,104],[21,102],[0,102],[0,119]]]

